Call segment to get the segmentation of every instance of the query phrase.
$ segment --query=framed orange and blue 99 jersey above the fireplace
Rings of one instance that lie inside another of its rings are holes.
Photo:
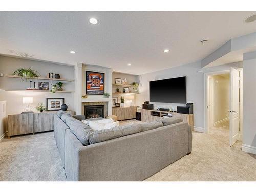
[[[86,94],[104,95],[105,74],[86,71]]]

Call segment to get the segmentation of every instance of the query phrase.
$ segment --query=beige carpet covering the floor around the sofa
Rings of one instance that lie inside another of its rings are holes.
[[[138,121],[122,121],[132,124]],[[143,122],[139,122],[143,123]],[[193,150],[146,181],[256,181],[256,155],[228,146],[228,125],[193,132]],[[53,132],[0,142],[0,181],[65,181]]]

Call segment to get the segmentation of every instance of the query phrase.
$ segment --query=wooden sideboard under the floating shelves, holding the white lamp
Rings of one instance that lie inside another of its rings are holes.
[[[14,135],[53,130],[54,115],[56,113],[57,111],[8,115],[8,138],[10,139]],[[67,113],[75,115],[75,112],[71,110],[68,110]]]

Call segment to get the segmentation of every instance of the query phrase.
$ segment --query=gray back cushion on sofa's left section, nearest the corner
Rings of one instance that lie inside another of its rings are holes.
[[[76,119],[71,123],[70,130],[83,145],[89,145],[88,135],[93,132],[92,128]]]

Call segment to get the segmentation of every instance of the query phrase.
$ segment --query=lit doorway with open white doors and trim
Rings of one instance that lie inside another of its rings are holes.
[[[242,140],[243,69],[205,73],[205,132],[232,146]]]

